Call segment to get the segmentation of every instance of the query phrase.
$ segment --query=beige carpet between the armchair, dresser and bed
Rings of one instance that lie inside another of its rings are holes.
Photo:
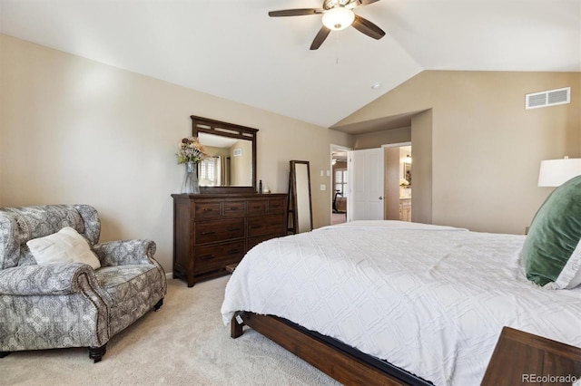
[[[0,385],[338,384],[259,333],[231,339],[220,314],[229,278],[168,280],[160,311],[114,336],[102,362],[81,348],[13,352],[0,359]]]

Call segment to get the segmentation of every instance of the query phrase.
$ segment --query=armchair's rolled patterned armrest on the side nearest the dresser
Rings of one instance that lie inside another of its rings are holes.
[[[93,246],[102,266],[156,265],[153,259],[155,243],[152,240],[108,241]]]

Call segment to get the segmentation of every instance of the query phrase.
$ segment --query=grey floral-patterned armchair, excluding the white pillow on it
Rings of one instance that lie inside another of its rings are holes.
[[[64,227],[86,239],[101,267],[37,264],[27,241]],[[100,233],[97,211],[87,205],[0,208],[0,358],[88,347],[89,357],[99,362],[113,335],[162,306],[167,283],[153,259],[155,243],[97,244]]]

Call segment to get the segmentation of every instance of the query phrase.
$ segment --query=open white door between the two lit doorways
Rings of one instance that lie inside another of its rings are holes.
[[[347,170],[347,220],[382,220],[383,149],[350,151]]]

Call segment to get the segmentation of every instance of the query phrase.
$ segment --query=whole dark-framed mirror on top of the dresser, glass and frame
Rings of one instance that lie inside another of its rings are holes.
[[[258,129],[192,115],[192,135],[209,157],[198,164],[202,193],[256,191]]]

